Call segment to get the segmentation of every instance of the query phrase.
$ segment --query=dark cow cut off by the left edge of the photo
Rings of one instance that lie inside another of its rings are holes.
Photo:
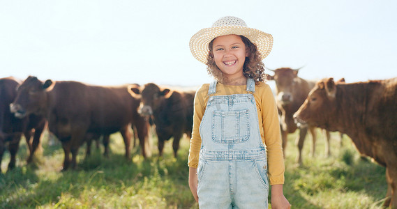
[[[22,134],[24,134],[29,148],[27,163],[32,162],[34,153],[40,147],[41,136],[47,124],[44,117],[36,114],[20,119],[15,118],[10,112],[10,103],[15,99],[17,86],[20,83],[20,80],[14,77],[0,79],[0,164],[3,153],[6,150],[6,144],[8,144],[10,162],[8,163],[7,171],[15,168],[15,157],[20,146]]]

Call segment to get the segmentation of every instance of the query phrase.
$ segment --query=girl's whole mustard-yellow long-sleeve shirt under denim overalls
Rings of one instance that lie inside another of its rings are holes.
[[[204,116],[205,108],[209,100],[209,84],[202,85],[195,94],[195,107],[193,115],[193,132],[190,139],[188,166],[197,168],[199,153],[201,147],[200,123]],[[247,93],[246,85],[232,86],[218,82],[216,85],[215,95],[231,95]],[[284,158],[283,148],[280,138],[280,123],[278,122],[278,111],[273,93],[269,85],[260,83],[255,85],[253,93],[258,121],[260,127],[260,136],[267,150],[267,163],[269,168],[270,185],[279,185],[284,183]]]

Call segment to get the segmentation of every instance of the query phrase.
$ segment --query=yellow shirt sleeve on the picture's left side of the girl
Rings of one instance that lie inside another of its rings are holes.
[[[194,100],[194,111],[193,111],[193,130],[192,138],[190,139],[188,167],[197,168],[200,148],[201,148],[201,137],[200,137],[200,123],[202,116],[204,115],[205,107],[207,106],[206,95],[208,92],[209,85],[203,85],[195,93]]]

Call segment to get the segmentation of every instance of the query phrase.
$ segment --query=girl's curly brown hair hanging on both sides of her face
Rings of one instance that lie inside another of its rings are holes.
[[[243,75],[247,78],[253,78],[255,82],[264,82],[265,72],[264,63],[262,62],[262,56],[257,50],[256,45],[250,42],[245,36],[240,36],[241,40],[246,45],[248,56],[246,56],[246,61],[244,61]],[[226,77],[223,77],[223,72],[218,68],[214,59],[214,52],[212,51],[212,45],[214,40],[209,42],[209,54],[207,57],[207,72],[209,75],[213,76],[218,82],[225,83]]]

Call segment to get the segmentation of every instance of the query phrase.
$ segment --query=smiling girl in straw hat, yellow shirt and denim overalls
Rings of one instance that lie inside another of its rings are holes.
[[[200,208],[267,208],[268,168],[272,208],[290,208],[278,112],[264,84],[262,59],[272,45],[270,34],[237,17],[222,17],[190,39],[193,56],[216,79],[195,95],[188,166]]]

